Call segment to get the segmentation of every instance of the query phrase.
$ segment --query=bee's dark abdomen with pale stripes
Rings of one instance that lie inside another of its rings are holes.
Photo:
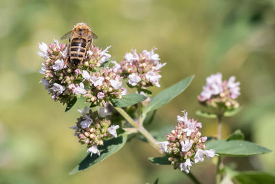
[[[72,39],[69,48],[69,57],[72,64],[78,65],[83,61],[86,54],[86,45],[86,39]]]

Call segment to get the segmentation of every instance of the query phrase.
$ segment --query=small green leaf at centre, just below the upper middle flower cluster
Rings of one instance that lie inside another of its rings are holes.
[[[135,105],[138,102],[144,101],[147,97],[142,94],[126,94],[122,95],[121,99],[111,99],[111,103],[115,108],[126,108],[129,105]]]

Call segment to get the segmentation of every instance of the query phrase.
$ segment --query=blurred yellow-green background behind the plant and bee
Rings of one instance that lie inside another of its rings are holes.
[[[38,42],[52,43],[78,22],[98,34],[95,45],[112,45],[110,54],[122,61],[132,48],[157,47],[162,62],[162,88],[195,74],[190,87],[159,109],[151,129],[175,125],[177,114],[190,117],[202,109],[197,95],[206,76],[222,72],[241,82],[243,110],[225,119],[223,137],[237,128],[250,141],[275,150],[275,1],[272,0],[119,0],[0,1],[0,183],[188,183],[171,166],[157,166],[148,156],[153,148],[138,140],[85,172],[69,176],[85,156],[74,125],[76,110],[52,101],[39,83]],[[196,117],[206,136],[217,122]],[[237,170],[275,173],[274,153],[248,159],[225,159]],[[192,172],[205,183],[214,181],[210,161]]]

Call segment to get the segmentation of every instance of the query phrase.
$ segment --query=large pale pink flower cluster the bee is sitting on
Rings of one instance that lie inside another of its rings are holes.
[[[59,45],[54,40],[49,45],[39,43],[39,48],[38,54],[44,59],[41,82],[55,101],[68,103],[74,96],[83,95],[92,105],[104,106],[110,98],[121,97],[122,77],[115,68],[96,70],[110,59],[111,55],[107,53],[110,47],[102,50],[93,45],[77,67],[70,65],[69,61],[65,63],[68,47],[64,43]]]

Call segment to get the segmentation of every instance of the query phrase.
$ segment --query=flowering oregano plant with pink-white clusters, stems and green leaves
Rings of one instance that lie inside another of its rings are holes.
[[[233,116],[241,107],[236,101],[240,95],[240,83],[234,76],[222,81],[221,73],[212,74],[206,79],[206,85],[198,96],[198,101],[208,111],[198,110],[197,115],[217,119],[218,136],[203,136],[200,132],[203,123],[188,116],[188,110],[177,116],[173,127],[148,132],[144,125],[153,122],[156,111],[173,100],[188,88],[194,76],[184,79],[166,88],[159,94],[152,94],[150,88],[160,87],[161,63],[159,55],[152,50],[131,50],[118,63],[106,49],[92,45],[82,63],[70,65],[65,62],[69,45],[39,43],[38,54],[44,59],[40,73],[41,83],[54,101],[66,105],[65,112],[83,101],[85,108],[78,110],[80,117],[72,121],[72,130],[76,141],[85,145],[87,155],[76,164],[69,174],[86,170],[112,154],[118,152],[128,139],[136,137],[146,141],[157,152],[158,157],[148,161],[157,165],[171,165],[172,170],[183,172],[194,183],[203,183],[192,174],[192,165],[204,159],[213,159],[217,166],[216,181],[223,179],[248,181],[248,178],[262,176],[257,172],[236,172],[223,164],[225,156],[252,156],[271,152],[261,145],[245,141],[241,130],[236,130],[227,139],[222,137],[224,116]],[[133,93],[129,93],[129,91]],[[181,112],[181,110],[179,110]],[[140,150],[142,152],[142,150]],[[268,174],[266,174],[268,175]],[[268,175],[270,179],[274,177]],[[161,182],[161,179],[155,183]]]

